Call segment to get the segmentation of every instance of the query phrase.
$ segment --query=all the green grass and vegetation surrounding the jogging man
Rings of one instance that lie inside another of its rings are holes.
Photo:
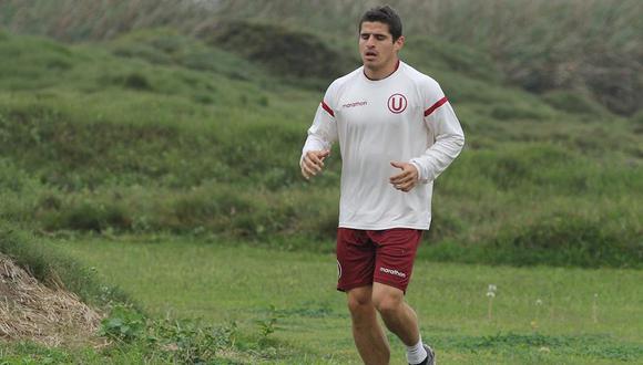
[[[104,306],[102,334],[113,342],[2,345],[0,357],[355,361],[325,261],[340,154],[335,147],[310,182],[297,161],[323,90],[358,65],[351,34],[365,2],[297,4],[0,3],[0,252]],[[427,328],[432,340],[460,363],[640,361],[631,323],[641,301],[631,269],[643,267],[640,2],[392,4],[406,13],[402,59],[440,82],[467,135],[436,182],[414,279],[429,288],[411,300],[439,323]],[[305,283],[275,272],[274,255]],[[223,270],[232,260],[241,269]],[[530,284],[500,281],[514,275]],[[247,290],[227,300],[226,280]],[[496,303],[507,316],[491,323],[472,294],[489,282],[516,288]],[[177,293],[170,302],[169,288]],[[318,288],[330,288],[328,298],[317,300]],[[549,319],[534,319],[528,303],[539,298],[560,302]],[[468,319],[472,310],[482,314]],[[194,317],[207,323],[181,320]]]

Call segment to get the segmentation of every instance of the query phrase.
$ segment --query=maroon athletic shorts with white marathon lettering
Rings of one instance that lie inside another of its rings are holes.
[[[337,229],[337,290],[378,282],[406,292],[422,231]]]

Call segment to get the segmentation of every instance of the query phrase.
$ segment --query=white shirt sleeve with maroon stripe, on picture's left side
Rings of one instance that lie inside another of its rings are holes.
[[[333,143],[337,140],[337,122],[335,121],[335,111],[331,105],[335,105],[333,97],[333,85],[328,87],[324,100],[319,103],[313,125],[308,128],[308,138],[302,149],[302,157],[299,165],[304,160],[304,156],[309,150],[330,149]]]

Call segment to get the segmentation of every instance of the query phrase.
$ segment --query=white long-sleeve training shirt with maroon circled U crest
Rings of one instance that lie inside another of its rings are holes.
[[[386,79],[372,81],[364,67],[337,79],[317,108],[303,148],[330,149],[339,142],[341,191],[339,227],[380,230],[429,229],[433,180],[460,154],[465,135],[440,85],[404,62]],[[389,178],[418,169],[409,192]]]

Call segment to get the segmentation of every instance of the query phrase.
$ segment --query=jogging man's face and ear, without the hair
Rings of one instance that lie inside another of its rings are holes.
[[[392,41],[388,24],[378,21],[361,23],[359,31],[359,53],[364,66],[379,70],[396,60],[404,45],[404,36]]]

